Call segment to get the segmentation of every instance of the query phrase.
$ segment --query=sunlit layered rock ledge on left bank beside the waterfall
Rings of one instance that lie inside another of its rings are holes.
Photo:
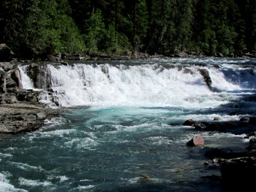
[[[21,88],[15,63],[0,63],[0,133],[35,131],[45,119],[58,115],[38,102],[38,94]]]

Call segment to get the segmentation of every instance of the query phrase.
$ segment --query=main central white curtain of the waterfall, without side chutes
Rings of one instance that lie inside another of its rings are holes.
[[[191,95],[195,100],[198,96],[211,96],[202,76],[193,67],[194,74],[155,65],[127,68],[77,64],[58,68],[48,65],[48,68],[52,89],[61,106],[177,106],[186,105]],[[195,101],[200,102],[204,99]]]

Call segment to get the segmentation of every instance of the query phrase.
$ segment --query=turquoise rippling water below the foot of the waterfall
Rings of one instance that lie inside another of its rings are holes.
[[[39,131],[1,136],[0,184],[10,191],[219,191],[218,182],[201,179],[220,175],[204,166],[204,152],[234,148],[243,137],[202,133],[205,147],[186,147],[195,130],[180,124],[189,115],[179,108],[63,109]]]

